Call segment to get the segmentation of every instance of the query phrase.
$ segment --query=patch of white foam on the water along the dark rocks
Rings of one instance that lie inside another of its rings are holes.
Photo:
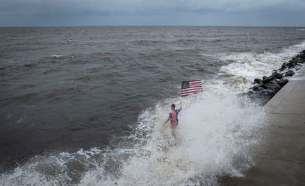
[[[288,62],[305,48],[305,42],[295,44],[280,53],[266,51],[263,53],[231,53],[222,56],[221,60],[233,60],[233,63],[222,66],[220,71],[233,76],[231,86],[246,92],[255,78],[270,76],[273,70],[280,69],[283,62]]]

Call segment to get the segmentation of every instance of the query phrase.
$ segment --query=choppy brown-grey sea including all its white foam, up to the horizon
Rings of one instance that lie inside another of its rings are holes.
[[[292,27],[0,28],[0,185],[221,185],[270,138],[238,96],[305,48]],[[176,140],[162,126],[183,97]]]

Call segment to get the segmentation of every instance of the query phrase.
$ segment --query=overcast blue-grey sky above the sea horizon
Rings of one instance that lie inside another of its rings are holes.
[[[0,0],[0,26],[305,26],[305,0]]]

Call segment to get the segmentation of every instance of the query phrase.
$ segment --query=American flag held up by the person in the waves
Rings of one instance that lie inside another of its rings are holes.
[[[197,94],[198,92],[204,92],[204,90],[202,90],[201,80],[182,81],[181,97],[188,96],[190,94]]]

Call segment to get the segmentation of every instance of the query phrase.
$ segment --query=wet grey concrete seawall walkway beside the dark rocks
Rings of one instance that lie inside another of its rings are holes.
[[[265,105],[272,139],[245,178],[223,185],[305,185],[305,65]]]

